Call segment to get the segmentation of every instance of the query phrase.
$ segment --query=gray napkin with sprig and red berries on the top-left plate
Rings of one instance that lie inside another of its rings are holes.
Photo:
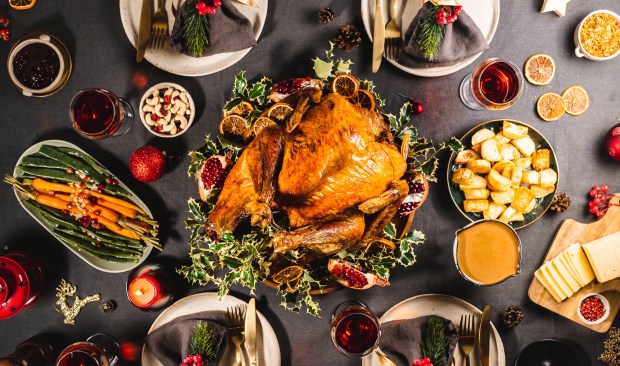
[[[185,39],[181,31],[187,6],[186,1],[179,8],[177,17],[174,20],[174,27],[170,33],[170,39],[172,47],[183,54],[191,56],[187,52]],[[248,47],[256,46],[252,23],[237,10],[230,0],[222,0],[222,6],[217,9],[215,14],[207,14],[205,16],[209,17],[209,47],[207,47],[202,57],[244,50]]]

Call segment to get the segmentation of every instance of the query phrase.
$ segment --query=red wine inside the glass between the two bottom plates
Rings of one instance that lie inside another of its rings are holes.
[[[336,326],[336,343],[349,353],[364,353],[378,337],[377,324],[365,314],[345,315]]]

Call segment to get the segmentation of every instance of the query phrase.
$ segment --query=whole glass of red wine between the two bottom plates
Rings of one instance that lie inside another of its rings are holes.
[[[332,317],[331,336],[338,352],[351,358],[361,358],[379,345],[379,319],[359,301],[338,305]]]

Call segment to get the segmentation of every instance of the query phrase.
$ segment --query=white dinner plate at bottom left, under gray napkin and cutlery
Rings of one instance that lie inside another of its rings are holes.
[[[226,296],[225,299],[220,301],[215,292],[203,292],[182,298],[159,314],[155,322],[153,322],[153,325],[151,325],[149,334],[162,325],[181,316],[203,311],[226,311],[226,309],[235,305],[247,304],[231,295]],[[258,320],[260,320],[260,324],[257,324],[256,332],[258,364],[261,366],[280,366],[280,345],[278,344],[278,338],[267,319],[258,311],[256,314],[258,315]],[[245,354],[245,352],[243,353]],[[235,347],[229,342],[227,343],[224,358],[222,358],[220,366],[234,365],[234,360]],[[181,360],[179,360],[179,363],[180,362]],[[243,366],[248,365],[247,360],[244,359],[242,364]],[[162,366],[161,362],[155,358],[155,355],[153,355],[146,345],[142,348],[142,365]]]

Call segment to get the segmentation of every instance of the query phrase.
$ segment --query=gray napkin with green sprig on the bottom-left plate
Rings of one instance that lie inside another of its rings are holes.
[[[213,330],[213,343],[218,350],[216,362],[205,363],[205,366],[215,366],[226,348],[227,320],[226,314],[221,311],[206,311],[177,318],[146,336],[145,343],[162,365],[179,366],[189,354],[189,345],[199,320],[208,323]]]

